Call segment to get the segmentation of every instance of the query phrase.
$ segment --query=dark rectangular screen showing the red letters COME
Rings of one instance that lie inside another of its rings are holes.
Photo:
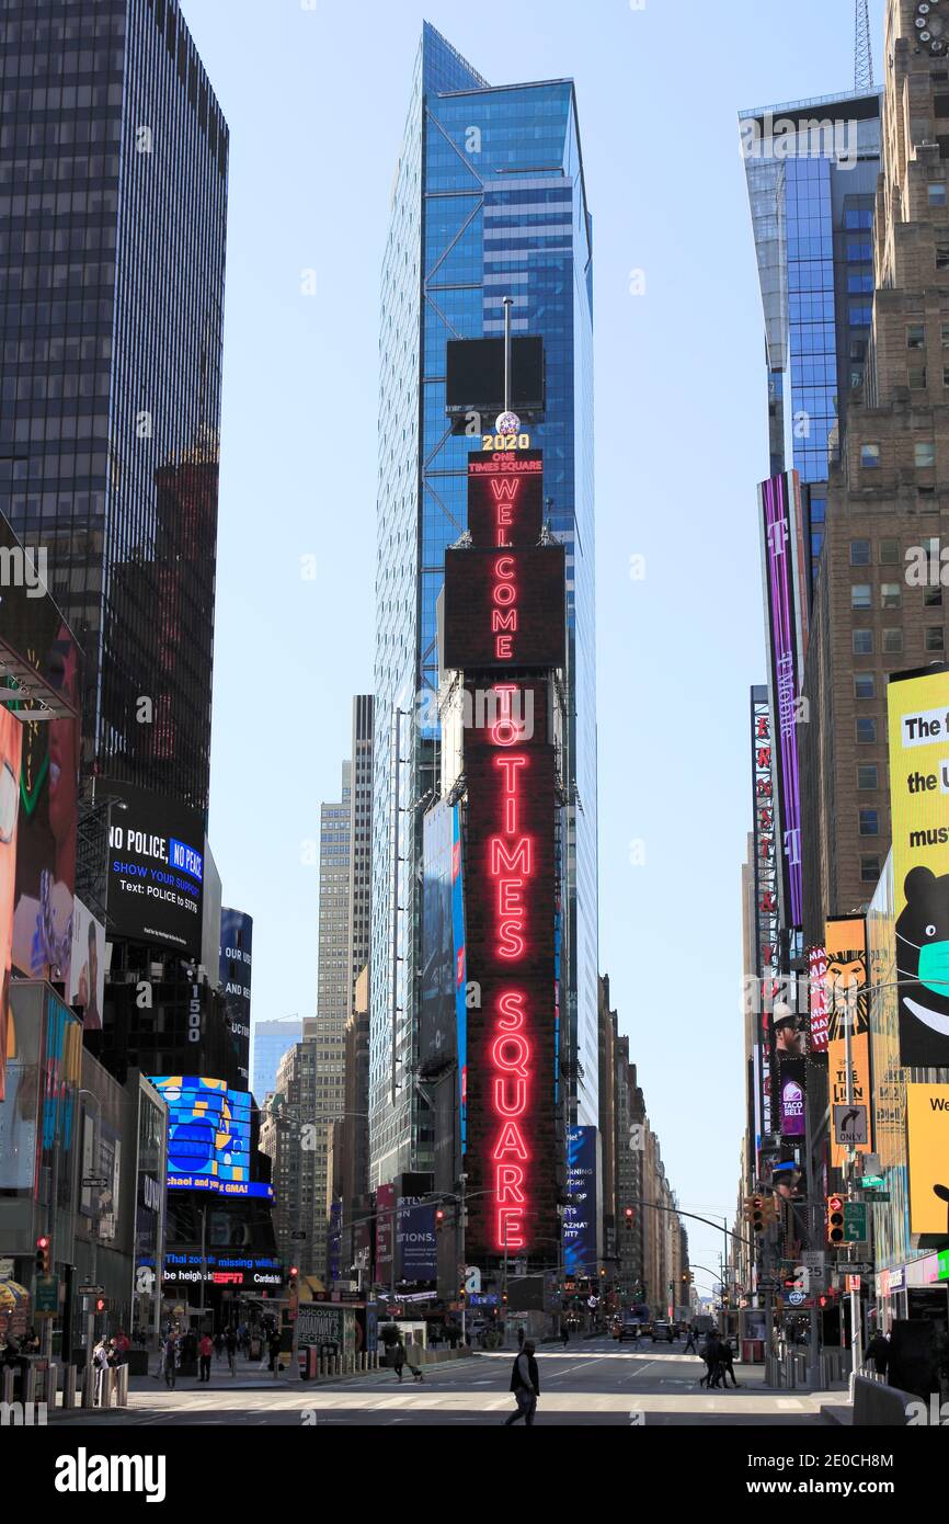
[[[445,658],[460,671],[562,668],[564,546],[445,553]]]

